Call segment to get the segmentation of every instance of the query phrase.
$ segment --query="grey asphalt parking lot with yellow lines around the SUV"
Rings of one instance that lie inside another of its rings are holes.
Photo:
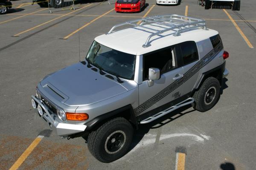
[[[179,153],[186,170],[256,169],[254,0],[241,1],[240,11],[205,10],[197,0],[179,6],[147,0],[145,10],[132,14],[116,13],[107,1],[80,0],[76,10],[52,14],[30,1],[12,3],[18,5],[0,16],[0,170],[174,170]],[[30,96],[45,75],[79,61],[79,27],[84,58],[93,39],[113,25],[159,14],[200,17],[219,32],[230,54],[223,94],[207,112],[186,107],[141,125],[124,157],[101,163],[83,138],[61,139],[49,130]]]

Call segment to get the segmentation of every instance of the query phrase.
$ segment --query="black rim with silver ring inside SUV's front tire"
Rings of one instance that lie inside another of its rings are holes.
[[[105,142],[105,150],[109,154],[117,153],[122,149],[126,140],[125,133],[122,130],[117,130],[108,136]]]

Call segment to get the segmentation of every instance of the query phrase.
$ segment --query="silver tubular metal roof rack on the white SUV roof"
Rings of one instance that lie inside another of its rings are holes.
[[[136,22],[141,22],[141,23],[138,24]],[[152,23],[156,23],[157,25],[154,25],[154,27],[158,27],[160,29],[149,28],[146,26],[147,24],[152,24]],[[151,37],[162,34],[166,31],[173,30],[175,31],[173,36],[180,36],[181,32],[189,31],[195,28],[203,28],[207,30],[205,20],[202,20],[199,18],[186,17],[182,15],[170,14],[170,15],[156,15],[154,17],[145,17],[138,20],[132,20],[132,21],[127,21],[125,23],[120,23],[113,26],[111,30],[108,31],[108,34],[125,29],[125,28],[122,28],[119,30],[115,30],[115,28],[120,26],[125,26],[125,25],[131,25],[134,27],[154,31],[152,32],[151,35],[148,36],[145,44],[143,44],[144,48],[147,48],[150,46],[149,40],[151,39]]]

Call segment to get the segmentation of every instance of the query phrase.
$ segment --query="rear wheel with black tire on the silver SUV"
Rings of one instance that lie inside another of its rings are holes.
[[[217,103],[219,96],[220,83],[218,79],[209,77],[193,95],[195,102],[192,103],[192,106],[201,112],[208,111]]]

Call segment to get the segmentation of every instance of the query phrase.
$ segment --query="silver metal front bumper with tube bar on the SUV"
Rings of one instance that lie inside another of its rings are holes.
[[[86,129],[86,125],[77,125],[77,124],[70,124],[64,123],[58,120],[58,118],[49,110],[47,105],[44,105],[41,99],[37,99],[35,96],[31,96],[35,103],[41,106],[42,110],[44,111],[43,115],[41,116],[49,126],[57,133],[58,136],[69,136],[75,133],[84,132]]]

